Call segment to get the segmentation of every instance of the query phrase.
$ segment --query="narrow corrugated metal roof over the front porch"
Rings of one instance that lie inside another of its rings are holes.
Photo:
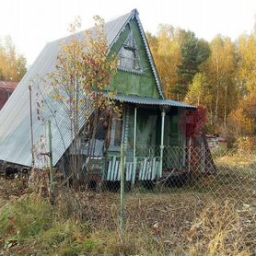
[[[114,99],[121,102],[129,102],[129,103],[134,103],[139,105],[172,106],[172,107],[189,108],[189,109],[196,108],[192,105],[182,103],[180,101],[176,101],[172,99],[153,99],[153,98],[140,97],[140,96],[134,96],[134,95],[116,95]]]

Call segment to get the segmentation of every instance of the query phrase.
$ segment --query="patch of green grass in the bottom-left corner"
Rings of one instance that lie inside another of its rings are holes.
[[[0,249],[5,255],[78,255],[97,243],[87,238],[87,226],[56,217],[58,208],[30,193],[10,200],[0,211]]]

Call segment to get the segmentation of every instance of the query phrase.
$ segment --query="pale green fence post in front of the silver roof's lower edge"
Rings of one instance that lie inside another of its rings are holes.
[[[55,180],[53,173],[53,162],[52,162],[52,124],[51,120],[48,120],[48,141],[49,141],[49,159],[50,159],[50,201],[54,204],[54,192],[55,192]]]

